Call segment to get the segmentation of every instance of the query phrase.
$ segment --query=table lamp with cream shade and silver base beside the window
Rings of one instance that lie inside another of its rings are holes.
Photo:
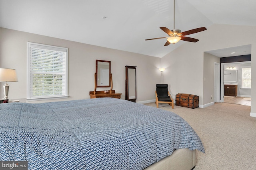
[[[0,68],[0,82],[5,82],[4,88],[4,100],[8,99],[9,84],[7,82],[18,82],[16,70],[10,68]]]

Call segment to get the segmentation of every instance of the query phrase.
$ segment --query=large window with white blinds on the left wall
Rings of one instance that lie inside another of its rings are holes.
[[[28,100],[68,97],[68,49],[28,42]]]

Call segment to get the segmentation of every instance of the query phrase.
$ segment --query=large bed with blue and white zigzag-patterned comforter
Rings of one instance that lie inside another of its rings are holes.
[[[116,98],[0,104],[0,117],[0,161],[29,170],[192,169],[204,152],[180,116]]]

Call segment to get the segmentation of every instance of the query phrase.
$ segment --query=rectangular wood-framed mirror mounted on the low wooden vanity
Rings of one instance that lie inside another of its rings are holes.
[[[110,61],[96,60],[97,87],[110,87]]]

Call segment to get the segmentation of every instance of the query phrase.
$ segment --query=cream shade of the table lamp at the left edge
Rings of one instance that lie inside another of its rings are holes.
[[[0,68],[0,82],[18,82],[16,70]]]

